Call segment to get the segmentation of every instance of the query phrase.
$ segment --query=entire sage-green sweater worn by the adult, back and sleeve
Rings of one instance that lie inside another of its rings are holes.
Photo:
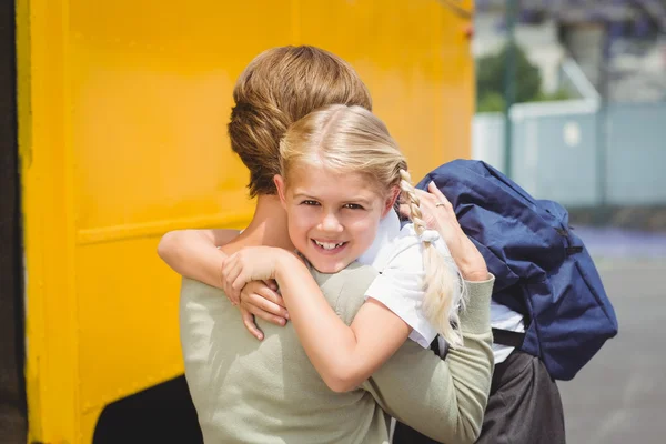
[[[376,272],[352,264],[337,274],[313,275],[350,324]],[[185,377],[205,443],[389,443],[384,411],[437,441],[473,443],[491,386],[493,279],[467,285],[463,347],[442,361],[406,341],[362,386],[334,393],[310,363],[291,324],[281,327],[258,320],[264,332],[260,342],[222,291],[183,280]]]

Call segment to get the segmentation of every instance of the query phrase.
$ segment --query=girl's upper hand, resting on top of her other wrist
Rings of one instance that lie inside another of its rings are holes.
[[[250,281],[271,281],[280,254],[284,251],[271,246],[245,246],[225,258],[221,266],[222,290],[232,304],[240,303],[241,290]]]

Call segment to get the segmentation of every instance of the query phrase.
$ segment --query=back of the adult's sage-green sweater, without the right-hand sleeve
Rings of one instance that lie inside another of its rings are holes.
[[[350,323],[375,275],[352,264],[315,278]],[[344,306],[337,306],[343,286]],[[291,325],[261,323],[265,339],[259,342],[222,291],[188,279],[180,323],[185,376],[206,443],[387,442],[387,418],[371,394],[332,392]]]

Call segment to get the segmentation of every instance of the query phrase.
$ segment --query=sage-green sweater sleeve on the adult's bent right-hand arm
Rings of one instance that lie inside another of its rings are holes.
[[[493,372],[490,324],[495,278],[466,282],[468,302],[461,313],[464,345],[445,360],[406,341],[367,380],[367,390],[389,414],[431,438],[474,443],[481,433]]]

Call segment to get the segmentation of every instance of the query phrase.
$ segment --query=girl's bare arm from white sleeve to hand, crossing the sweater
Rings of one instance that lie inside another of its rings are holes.
[[[305,353],[334,392],[359,386],[407,340],[411,327],[374,300],[347,326],[331,309],[307,268],[281,249],[246,248],[225,261],[223,274],[236,287],[275,279]]]

